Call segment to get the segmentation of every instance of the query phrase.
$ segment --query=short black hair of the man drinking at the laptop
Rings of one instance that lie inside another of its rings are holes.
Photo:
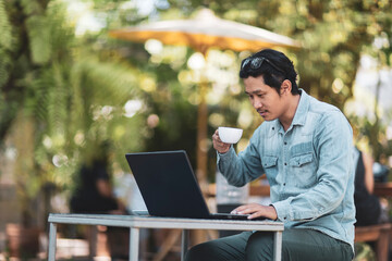
[[[253,66],[252,61],[257,58],[261,58],[264,61],[260,66]],[[278,94],[280,94],[280,88],[284,79],[291,82],[291,92],[293,95],[299,94],[298,86],[295,82],[297,73],[294,70],[293,62],[283,52],[264,49],[242,61],[240,70],[241,78],[247,78],[249,76],[256,78],[260,75],[265,84],[274,88]]]

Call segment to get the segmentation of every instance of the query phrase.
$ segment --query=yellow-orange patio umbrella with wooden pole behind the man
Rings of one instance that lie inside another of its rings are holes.
[[[209,9],[203,9],[195,18],[160,21],[134,27],[111,30],[118,39],[144,42],[160,40],[164,45],[188,46],[206,55],[211,47],[233,51],[258,51],[264,48],[295,47],[299,44],[286,36],[217,17]],[[200,84],[200,102],[197,116],[197,177],[206,191],[207,151],[207,104],[205,95],[208,84]]]

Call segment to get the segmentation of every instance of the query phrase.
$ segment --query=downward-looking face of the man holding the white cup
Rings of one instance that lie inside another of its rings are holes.
[[[249,76],[244,79],[244,85],[252,105],[266,121],[279,119],[284,113],[286,102],[274,88],[265,84],[262,76]]]

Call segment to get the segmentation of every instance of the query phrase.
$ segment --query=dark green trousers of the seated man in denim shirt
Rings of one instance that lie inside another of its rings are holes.
[[[314,229],[284,229],[282,261],[351,261],[352,247]],[[270,261],[273,260],[273,233],[243,232],[203,243],[191,248],[186,261]]]

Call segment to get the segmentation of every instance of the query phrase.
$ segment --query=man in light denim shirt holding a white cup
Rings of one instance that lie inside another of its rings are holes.
[[[293,63],[271,49],[242,62],[245,94],[265,122],[238,156],[217,130],[218,169],[235,186],[267,175],[272,203],[233,212],[284,222],[282,260],[352,260],[352,128],[339,109],[298,89],[296,76]],[[272,233],[244,232],[197,245],[186,260],[265,261],[272,254]]]

